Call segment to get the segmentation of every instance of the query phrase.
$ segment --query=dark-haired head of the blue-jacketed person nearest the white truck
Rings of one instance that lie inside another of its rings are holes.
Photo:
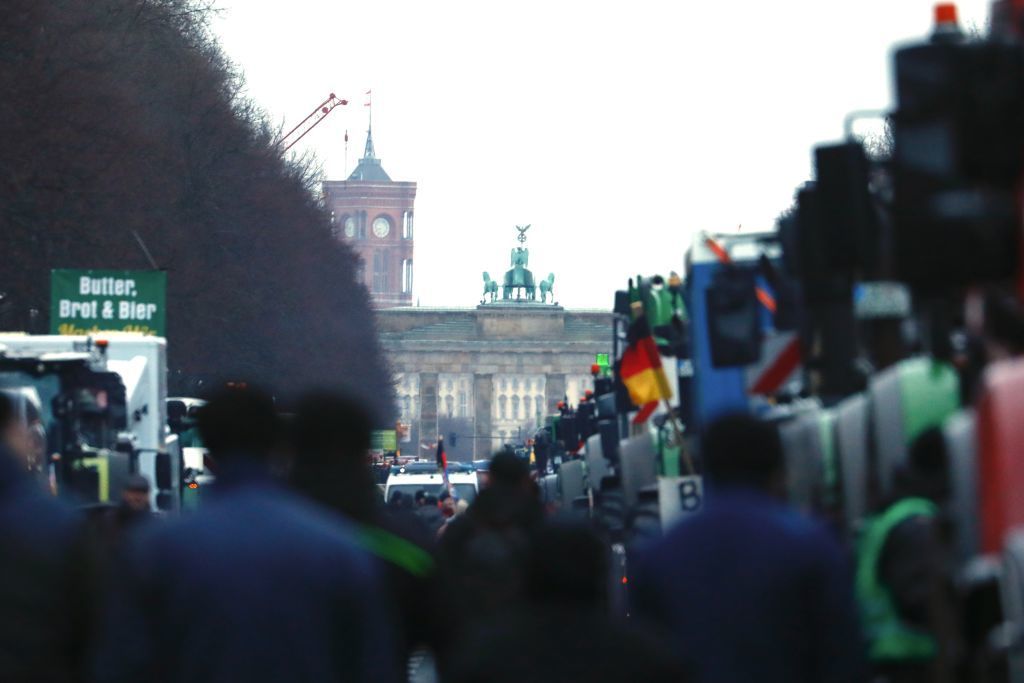
[[[257,389],[222,389],[200,409],[199,433],[218,462],[266,462],[281,438],[273,399]]]

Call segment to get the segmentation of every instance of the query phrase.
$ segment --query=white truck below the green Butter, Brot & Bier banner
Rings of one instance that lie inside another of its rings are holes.
[[[131,333],[0,334],[0,390],[45,435],[42,466],[58,494],[117,499],[138,473],[153,504],[177,509],[181,455],[168,433],[167,342]]]

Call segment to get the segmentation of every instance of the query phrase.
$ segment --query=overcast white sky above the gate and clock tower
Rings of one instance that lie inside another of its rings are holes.
[[[332,179],[374,140],[419,183],[422,305],[475,304],[531,223],[530,268],[608,308],[682,270],[697,229],[765,229],[851,110],[891,105],[890,50],[926,0],[219,0],[214,23],[274,122],[348,98],[302,145]],[[984,25],[988,0],[958,3]],[[344,133],[349,132],[348,164]]]

